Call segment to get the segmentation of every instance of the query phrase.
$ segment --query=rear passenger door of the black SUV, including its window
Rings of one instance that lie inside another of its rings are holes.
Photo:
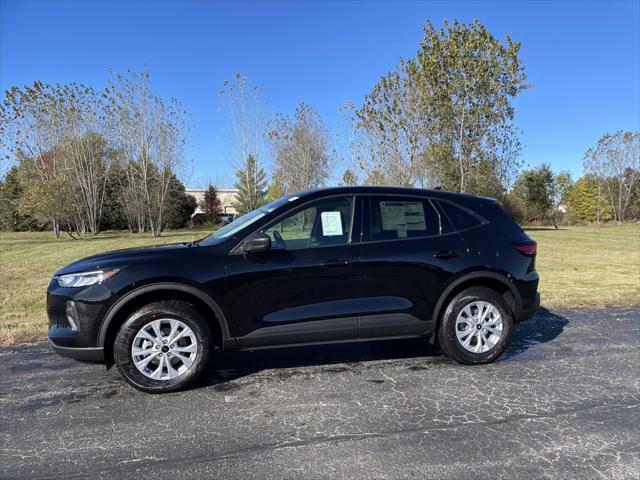
[[[429,198],[371,195],[364,203],[359,336],[429,333],[444,286],[465,266],[464,242]]]

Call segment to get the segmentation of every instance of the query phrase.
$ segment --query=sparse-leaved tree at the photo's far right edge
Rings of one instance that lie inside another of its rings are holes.
[[[607,192],[618,222],[625,219],[640,183],[640,132],[607,133],[585,153],[584,169]]]

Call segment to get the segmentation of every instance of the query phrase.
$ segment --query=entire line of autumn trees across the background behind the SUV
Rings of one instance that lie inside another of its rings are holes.
[[[477,20],[427,22],[415,56],[381,76],[359,106],[341,109],[340,138],[305,103],[269,115],[260,88],[236,74],[220,91],[236,209],[341,183],[491,196],[522,223],[638,218],[638,132],[605,134],[575,182],[548,165],[521,172],[513,101],[531,85],[519,52]],[[0,184],[0,226],[154,236],[184,226],[196,207],[179,180],[188,127],[177,100],[152,92],[147,71],[112,76],[103,91],[13,87],[0,109],[2,150],[14,162]],[[213,185],[205,197],[215,220]]]

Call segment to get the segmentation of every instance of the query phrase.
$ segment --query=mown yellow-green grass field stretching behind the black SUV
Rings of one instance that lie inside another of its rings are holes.
[[[531,228],[538,242],[546,307],[640,304],[640,225]],[[0,345],[46,335],[45,289],[51,274],[87,255],[118,248],[186,242],[202,231],[149,234],[105,232],[85,240],[50,233],[0,233]]]

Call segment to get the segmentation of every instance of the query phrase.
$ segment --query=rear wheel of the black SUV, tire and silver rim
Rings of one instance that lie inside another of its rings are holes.
[[[485,318],[479,322],[483,312]],[[513,314],[504,298],[490,288],[472,287],[458,293],[447,305],[438,341],[449,358],[465,365],[480,365],[502,355],[511,341],[512,328]]]

